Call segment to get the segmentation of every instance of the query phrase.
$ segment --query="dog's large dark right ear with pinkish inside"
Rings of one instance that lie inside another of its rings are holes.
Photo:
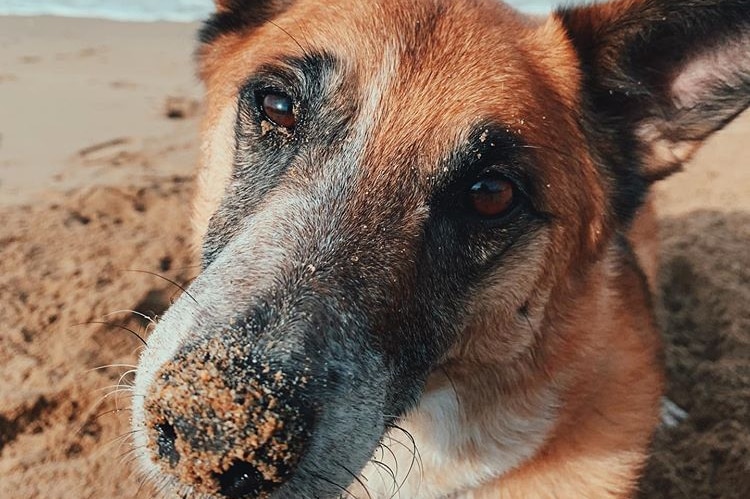
[[[557,16],[582,62],[591,126],[627,137],[647,180],[750,105],[750,0],[619,0]]]

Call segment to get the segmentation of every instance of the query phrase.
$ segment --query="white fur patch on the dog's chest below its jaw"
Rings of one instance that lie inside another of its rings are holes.
[[[554,426],[557,402],[545,388],[499,399],[470,420],[450,385],[430,391],[386,433],[362,481],[373,498],[470,497],[465,491],[534,456]],[[357,487],[354,495],[367,497]]]

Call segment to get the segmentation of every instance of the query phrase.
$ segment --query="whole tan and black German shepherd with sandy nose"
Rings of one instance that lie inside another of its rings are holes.
[[[202,271],[136,452],[205,498],[631,497],[651,184],[750,104],[750,0],[219,0]]]

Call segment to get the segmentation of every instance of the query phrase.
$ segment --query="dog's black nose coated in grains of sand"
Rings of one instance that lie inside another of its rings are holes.
[[[307,377],[241,345],[206,341],[161,367],[145,403],[148,442],[153,461],[196,492],[266,497],[306,448]]]

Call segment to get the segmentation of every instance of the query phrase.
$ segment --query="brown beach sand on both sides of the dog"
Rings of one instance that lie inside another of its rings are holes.
[[[147,326],[120,311],[179,291],[130,270],[196,273],[194,29],[0,17],[2,498],[153,494],[127,396],[103,397],[140,345],[117,325]],[[689,417],[657,435],[643,497],[750,497],[748,158],[745,115],[658,188],[669,395]]]

